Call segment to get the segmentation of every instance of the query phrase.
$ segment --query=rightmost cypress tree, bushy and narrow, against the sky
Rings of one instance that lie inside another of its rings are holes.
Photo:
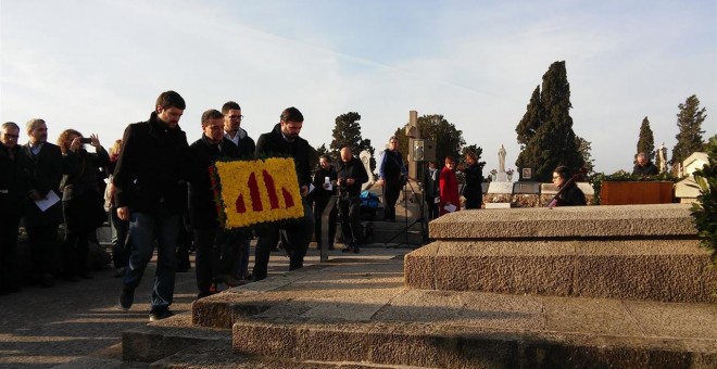
[[[703,150],[702,133],[705,131],[702,130],[702,122],[707,117],[706,109],[700,109],[700,99],[694,94],[678,107],[677,127],[680,131],[675,136],[677,143],[672,149],[672,164],[682,163],[693,152]]]

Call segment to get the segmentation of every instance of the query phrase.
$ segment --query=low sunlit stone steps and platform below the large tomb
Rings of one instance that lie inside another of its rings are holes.
[[[715,304],[408,290],[401,260],[347,259],[203,298],[191,320],[126,333],[123,345],[142,353],[125,359],[156,368],[207,366],[196,355],[210,340],[224,353],[215,368],[710,368],[716,316]]]

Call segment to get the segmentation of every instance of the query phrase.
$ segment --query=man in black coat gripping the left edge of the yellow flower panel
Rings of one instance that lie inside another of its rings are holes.
[[[219,157],[237,157],[239,150],[224,137],[224,115],[216,110],[202,114],[202,138],[194,141],[191,154],[191,176],[189,190],[189,219],[194,233],[197,247],[198,298],[209,296],[212,280],[219,275],[221,255],[218,244],[219,224],[214,190],[209,168]],[[239,245],[234,245],[235,249]],[[234,256],[234,255],[231,255]],[[229,257],[235,262],[235,257]],[[224,262],[226,263],[226,260]]]

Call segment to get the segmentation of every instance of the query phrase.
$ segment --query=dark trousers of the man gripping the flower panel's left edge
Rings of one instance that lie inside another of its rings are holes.
[[[217,228],[194,229],[197,288],[200,294],[209,295],[212,280],[216,276],[219,246]]]

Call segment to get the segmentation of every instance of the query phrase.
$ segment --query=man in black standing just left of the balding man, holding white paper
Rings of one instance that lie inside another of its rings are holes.
[[[327,180],[328,178],[328,180]],[[337,193],[336,189],[336,169],[331,161],[326,155],[318,157],[318,169],[314,174],[314,191],[311,193],[311,199],[314,202],[314,236],[316,237],[316,249],[322,247],[322,214],[332,195]],[[336,217],[338,209],[336,206],[329,213],[328,224],[328,249],[334,250],[334,239],[336,238]]]

